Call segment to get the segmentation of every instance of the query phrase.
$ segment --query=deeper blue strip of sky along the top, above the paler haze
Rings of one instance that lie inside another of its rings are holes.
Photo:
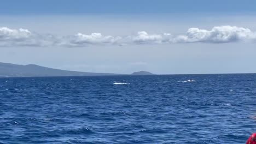
[[[15,15],[53,15],[53,14],[255,14],[256,1],[246,0],[62,0],[33,1],[9,0],[1,1],[1,14]]]

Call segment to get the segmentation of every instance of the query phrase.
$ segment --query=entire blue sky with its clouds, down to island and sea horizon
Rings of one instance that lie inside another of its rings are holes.
[[[256,73],[256,1],[1,1],[0,62],[97,73]]]

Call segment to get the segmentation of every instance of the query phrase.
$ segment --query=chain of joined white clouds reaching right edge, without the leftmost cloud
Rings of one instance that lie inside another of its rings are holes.
[[[187,33],[172,35],[170,33],[149,34],[139,31],[136,35],[116,36],[92,33],[78,33],[69,39],[69,46],[86,46],[96,44],[172,44],[172,43],[232,43],[238,41],[256,40],[256,33],[248,28],[235,26],[213,27],[211,30],[189,28]]]

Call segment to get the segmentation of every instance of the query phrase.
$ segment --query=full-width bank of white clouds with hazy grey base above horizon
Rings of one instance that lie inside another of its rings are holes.
[[[84,47],[89,45],[147,45],[174,43],[235,43],[240,41],[256,41],[256,32],[249,28],[236,26],[216,26],[210,30],[189,28],[180,35],[170,33],[149,34],[139,31],[137,34],[113,36],[101,33],[56,36],[39,34],[28,29],[11,29],[0,27],[0,47],[11,46],[63,46]]]

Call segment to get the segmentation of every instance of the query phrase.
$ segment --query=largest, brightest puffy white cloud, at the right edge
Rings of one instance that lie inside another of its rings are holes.
[[[189,28],[187,34],[178,35],[173,43],[231,43],[255,39],[255,32],[248,28],[220,26],[213,27],[210,31],[199,28]]]

